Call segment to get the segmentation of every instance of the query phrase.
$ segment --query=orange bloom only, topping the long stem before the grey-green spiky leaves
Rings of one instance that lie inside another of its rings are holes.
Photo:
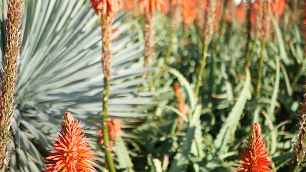
[[[101,10],[102,14],[118,12],[121,8],[122,0],[90,0],[91,8],[98,14]]]

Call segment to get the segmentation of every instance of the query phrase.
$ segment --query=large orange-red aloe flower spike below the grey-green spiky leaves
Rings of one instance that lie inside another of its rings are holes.
[[[78,128],[81,121],[75,121],[71,113],[66,112],[63,119],[60,135],[55,137],[53,147],[50,150],[51,156],[44,158],[49,164],[47,169],[42,172],[92,172],[95,170],[92,166],[98,164],[91,160],[94,152],[91,150],[87,141],[90,138],[81,134],[84,130]]]

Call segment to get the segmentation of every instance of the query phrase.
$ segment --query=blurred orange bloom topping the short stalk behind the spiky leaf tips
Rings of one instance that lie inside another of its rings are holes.
[[[155,14],[155,10],[160,13],[168,13],[167,0],[139,0],[140,12]]]

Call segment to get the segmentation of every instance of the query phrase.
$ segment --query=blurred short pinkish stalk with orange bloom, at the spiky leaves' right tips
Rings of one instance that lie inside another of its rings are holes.
[[[168,8],[165,0],[139,0],[140,13],[144,14],[145,25],[143,33],[145,37],[145,61],[144,66],[149,66],[155,52],[155,11],[167,13]]]

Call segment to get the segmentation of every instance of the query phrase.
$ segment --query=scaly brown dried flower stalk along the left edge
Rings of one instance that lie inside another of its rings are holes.
[[[11,137],[10,126],[14,116],[15,86],[17,80],[18,56],[21,50],[20,29],[24,0],[8,0],[8,12],[6,21],[6,44],[4,47],[4,69],[1,69],[2,88],[0,89],[0,170],[8,166],[7,156],[9,139]]]

